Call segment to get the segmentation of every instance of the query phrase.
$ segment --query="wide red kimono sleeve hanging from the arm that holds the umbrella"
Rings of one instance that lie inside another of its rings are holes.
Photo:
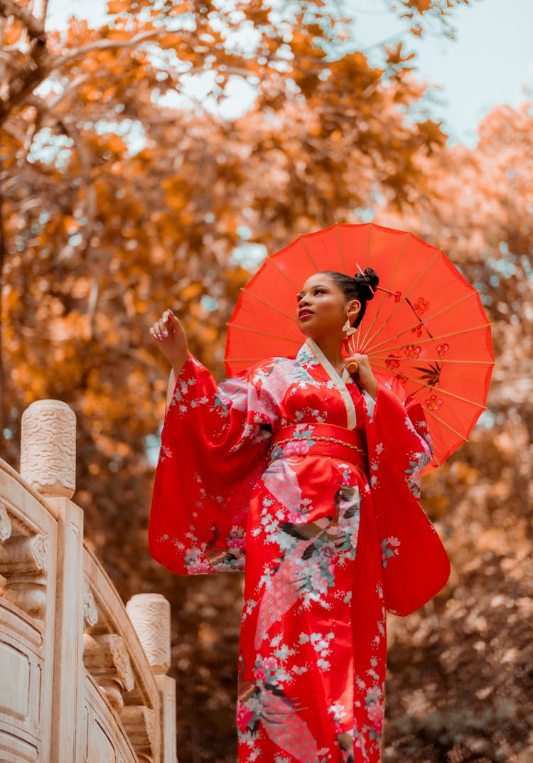
[[[448,555],[419,504],[420,475],[432,459],[429,431],[419,402],[383,381],[374,404],[367,401],[366,431],[385,607],[407,615],[450,574]]]

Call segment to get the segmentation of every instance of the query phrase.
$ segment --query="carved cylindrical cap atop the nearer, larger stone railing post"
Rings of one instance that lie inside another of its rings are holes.
[[[39,400],[22,414],[21,475],[46,497],[75,491],[74,411],[59,400]]]

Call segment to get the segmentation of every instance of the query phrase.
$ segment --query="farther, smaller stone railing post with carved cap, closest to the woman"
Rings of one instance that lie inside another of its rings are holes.
[[[170,604],[161,594],[136,594],[126,609],[156,674],[161,700],[161,763],[176,763],[176,683],[166,675],[170,668]]]

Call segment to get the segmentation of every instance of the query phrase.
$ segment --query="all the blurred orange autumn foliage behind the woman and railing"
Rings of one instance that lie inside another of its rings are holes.
[[[390,13],[450,35],[456,5]],[[453,573],[390,620],[384,761],[531,763],[533,104],[494,108],[475,149],[449,146],[413,54],[393,45],[370,66],[337,2],[110,0],[101,27],[63,31],[47,6],[0,0],[2,455],[18,466],[31,401],[75,410],[86,536],[124,598],[172,604],[181,763],[236,758],[242,580],[149,559],[168,370],[149,325],[172,307],[221,378],[226,320],[262,255],[370,219],[451,256],[497,356],[472,439],[425,478]],[[223,119],[175,98],[206,72],[220,104],[248,82],[252,108]]]

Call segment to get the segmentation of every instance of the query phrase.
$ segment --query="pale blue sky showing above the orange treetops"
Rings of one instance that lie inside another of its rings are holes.
[[[75,14],[94,24],[102,21],[104,0],[50,0],[49,27],[61,27]],[[428,34],[419,40],[387,10],[387,0],[345,0],[355,18],[353,35],[372,63],[380,61],[382,40],[404,41],[416,52],[416,76],[431,85],[429,111],[444,122],[451,143],[475,146],[477,124],[496,104],[517,106],[533,89],[533,0],[470,0],[451,16],[456,39]],[[198,87],[198,85],[197,85]],[[196,95],[201,96],[201,92]],[[236,89],[226,106],[236,115],[250,101]]]

